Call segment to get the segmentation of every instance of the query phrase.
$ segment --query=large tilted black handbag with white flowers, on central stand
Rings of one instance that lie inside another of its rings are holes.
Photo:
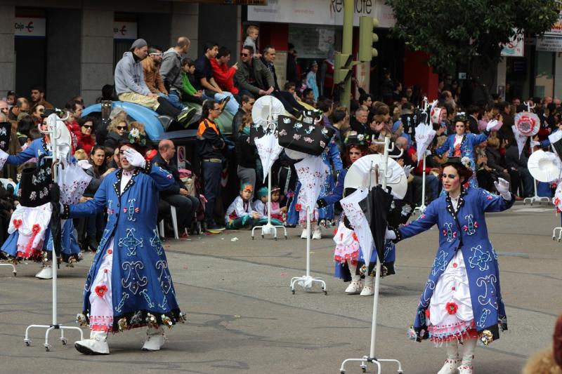
[[[334,130],[323,125],[315,125],[313,117],[303,116],[301,121],[293,117],[277,117],[277,138],[279,145],[287,149],[320,156],[327,147]]]

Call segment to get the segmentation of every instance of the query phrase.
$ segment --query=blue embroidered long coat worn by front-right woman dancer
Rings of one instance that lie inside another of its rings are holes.
[[[417,340],[429,338],[426,309],[439,277],[457,249],[462,251],[466,265],[476,330],[490,342],[499,339],[498,323],[501,323],[502,330],[507,329],[504,302],[499,290],[497,254],[488,239],[484,215],[485,212],[505,211],[514,201],[514,196],[506,201],[485,189],[469,187],[462,189],[457,213],[449,195],[445,194],[432,201],[417,220],[395,229],[396,241],[424,232],[433,225],[437,225],[439,230],[439,248],[414,321]]]

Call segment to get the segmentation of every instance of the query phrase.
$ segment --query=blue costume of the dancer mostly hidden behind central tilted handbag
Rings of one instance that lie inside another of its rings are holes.
[[[324,152],[322,152],[322,154],[320,154],[320,156],[322,157],[322,161],[324,161],[324,163],[330,169],[332,168],[332,164],[334,165],[334,170],[336,171],[336,173],[340,173],[344,169],[344,164],[341,162],[341,156],[339,154],[338,146],[336,145],[336,142],[335,142],[333,137],[332,137],[332,140],[330,140],[330,142],[328,143],[328,146],[326,147]],[[344,179],[341,178],[341,177],[338,177],[338,180],[340,180],[340,179],[341,179],[341,183],[342,183],[341,188],[342,188],[342,191],[343,191]],[[334,176],[332,175],[332,173],[329,173],[326,177],[324,185],[322,185],[322,187],[320,189],[320,195],[318,196],[318,199],[324,199],[326,196],[328,196],[334,190],[334,187],[335,187]],[[289,225],[298,225],[299,224],[299,212],[297,212],[295,210],[295,205],[296,205],[297,198],[299,197],[299,191],[300,190],[301,190],[301,182],[299,181],[299,182],[296,183],[294,197],[293,197],[293,200],[291,202],[291,206],[289,206],[289,209],[287,211],[287,223],[289,223]],[[341,197],[340,197],[340,199],[341,199]],[[339,199],[336,199],[335,201],[339,201]],[[318,220],[333,220],[334,219],[334,202],[335,201],[332,201],[331,203],[329,203],[327,206],[325,206],[323,208],[318,208]]]

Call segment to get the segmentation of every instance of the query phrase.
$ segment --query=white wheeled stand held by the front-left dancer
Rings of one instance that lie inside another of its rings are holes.
[[[51,116],[56,116],[56,114],[51,114]],[[63,123],[64,121],[66,121],[66,119],[68,119],[68,116],[70,116],[70,114],[67,115],[67,117],[65,119],[59,119],[58,116],[56,116],[56,119],[53,119],[53,121],[47,121],[47,130],[46,131],[42,131],[41,130],[41,123],[39,123],[39,132],[43,133],[43,134],[47,134],[49,135],[49,138],[51,138],[51,152],[52,152],[52,156],[51,157],[45,157],[46,159],[52,159],[53,160],[53,180],[55,181],[55,183],[57,182],[57,174],[58,174],[58,164],[61,163],[60,161],[60,149],[59,147],[62,147],[64,144],[60,144],[57,145],[57,140],[59,138],[62,137],[62,131],[58,130],[57,126],[56,126],[56,121],[60,121],[61,123]],[[63,123],[63,126],[65,126],[65,124]],[[54,241],[53,241],[54,243]],[[51,345],[48,344],[48,335],[49,333],[51,333],[52,330],[60,330],[60,338],[59,340],[61,342],[63,342],[63,345],[67,344],[67,338],[65,338],[65,330],[78,330],[80,333],[80,340],[84,339],[84,333],[82,333],[81,328],[77,327],[77,326],[62,326],[60,325],[60,323],[58,323],[57,321],[57,267],[58,267],[58,256],[55,255],[55,248],[53,248],[53,261],[52,261],[52,267],[53,267],[53,323],[51,323],[51,325],[30,325],[27,326],[27,328],[25,329],[25,338],[24,338],[24,342],[25,345],[27,347],[30,347],[31,345],[31,339],[30,339],[30,329],[31,328],[46,328],[46,333],[45,333],[45,343],[44,343],[44,347],[45,350],[47,352],[49,352],[51,350]]]

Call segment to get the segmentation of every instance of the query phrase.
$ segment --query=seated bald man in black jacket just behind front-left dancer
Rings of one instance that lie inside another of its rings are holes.
[[[174,142],[168,139],[160,140],[158,153],[152,159],[152,162],[168,171],[174,177],[174,185],[160,192],[160,199],[176,207],[178,231],[181,232],[180,237],[187,238],[188,233],[185,229],[189,229],[191,226],[195,212],[199,208],[199,199],[188,194],[188,190],[185,189],[185,185],[183,185],[180,179],[178,166],[174,162],[174,154],[176,154]]]

